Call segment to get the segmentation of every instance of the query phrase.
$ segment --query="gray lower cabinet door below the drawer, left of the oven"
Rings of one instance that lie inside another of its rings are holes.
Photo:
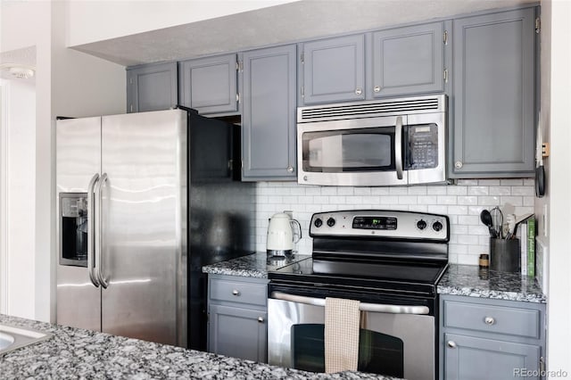
[[[266,362],[266,311],[210,305],[209,350]]]

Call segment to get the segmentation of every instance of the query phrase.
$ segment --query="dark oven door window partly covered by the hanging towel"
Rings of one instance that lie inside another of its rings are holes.
[[[311,372],[325,372],[325,325],[292,326],[292,365]],[[401,339],[360,329],[357,370],[385,376],[404,376]]]

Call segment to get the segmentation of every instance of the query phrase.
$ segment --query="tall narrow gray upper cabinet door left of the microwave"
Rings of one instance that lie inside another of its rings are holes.
[[[296,178],[295,58],[295,45],[243,55],[244,180]]]

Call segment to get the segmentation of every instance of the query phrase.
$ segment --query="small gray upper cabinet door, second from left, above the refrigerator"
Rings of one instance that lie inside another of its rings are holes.
[[[201,114],[237,111],[236,54],[178,62],[180,103]]]

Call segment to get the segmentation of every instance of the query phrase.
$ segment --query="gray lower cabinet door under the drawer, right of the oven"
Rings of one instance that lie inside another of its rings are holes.
[[[465,335],[444,336],[445,380],[540,378],[522,376],[521,372],[538,371],[541,351],[539,346]]]

